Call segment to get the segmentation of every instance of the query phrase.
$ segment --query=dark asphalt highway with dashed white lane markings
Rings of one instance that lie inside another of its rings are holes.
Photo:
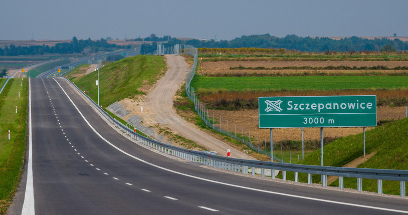
[[[32,78],[30,109],[32,153],[10,214],[408,213],[406,198],[263,180],[158,154],[114,130],[62,79]],[[31,183],[26,189],[30,165],[34,192]]]

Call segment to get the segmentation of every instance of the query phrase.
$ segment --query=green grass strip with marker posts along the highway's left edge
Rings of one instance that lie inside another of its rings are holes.
[[[20,87],[20,82],[21,79],[10,79],[0,94],[0,134],[2,134],[0,135],[0,214],[6,212],[23,172],[27,142],[28,79],[23,80],[23,87]]]

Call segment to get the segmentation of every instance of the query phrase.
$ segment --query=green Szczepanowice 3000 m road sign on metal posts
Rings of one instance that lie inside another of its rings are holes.
[[[376,96],[259,97],[259,128],[377,125]]]

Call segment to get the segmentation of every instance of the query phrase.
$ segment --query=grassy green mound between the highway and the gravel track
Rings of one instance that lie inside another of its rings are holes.
[[[165,68],[166,64],[160,56],[138,55],[99,69],[100,105],[107,107],[116,101],[143,94],[138,89],[145,84],[155,83],[157,77],[164,74]],[[70,78],[94,101],[98,100],[98,88],[95,85],[97,79],[96,72]]]

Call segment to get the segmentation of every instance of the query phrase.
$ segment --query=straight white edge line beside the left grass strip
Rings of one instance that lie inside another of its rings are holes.
[[[33,180],[33,138],[31,127],[31,78],[29,78],[29,160],[27,164],[27,184],[21,214],[35,214],[34,208],[34,180]]]

